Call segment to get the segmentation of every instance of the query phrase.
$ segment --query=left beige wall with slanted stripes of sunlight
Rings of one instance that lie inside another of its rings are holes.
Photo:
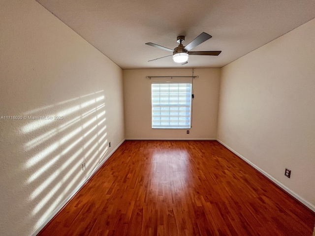
[[[29,236],[124,140],[123,73],[34,0],[1,0],[0,32],[0,235]]]

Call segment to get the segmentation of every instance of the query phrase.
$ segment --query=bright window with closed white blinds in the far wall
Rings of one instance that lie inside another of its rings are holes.
[[[152,84],[152,128],[187,129],[191,117],[191,83]]]

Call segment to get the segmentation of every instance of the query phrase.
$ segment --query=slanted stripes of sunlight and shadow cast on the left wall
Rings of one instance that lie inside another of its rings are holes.
[[[13,202],[21,206],[12,207],[20,207],[23,214],[8,211],[12,214],[8,220],[19,218],[16,230],[36,230],[103,161],[108,151],[103,93],[23,114],[27,120],[18,134],[23,147],[18,153],[20,167],[16,167],[21,173],[16,169],[10,173],[23,188],[14,191],[20,196]]]

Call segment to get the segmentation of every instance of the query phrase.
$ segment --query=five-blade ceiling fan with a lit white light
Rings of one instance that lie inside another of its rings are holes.
[[[166,57],[170,57],[173,56],[173,60],[177,63],[182,63],[182,65],[185,65],[188,63],[188,57],[189,55],[206,55],[206,56],[218,56],[221,51],[194,51],[194,52],[190,52],[191,49],[193,49],[194,47],[198,46],[199,44],[205,42],[206,40],[212,38],[211,35],[202,32],[201,34],[199,34],[194,40],[192,40],[187,46],[184,46],[182,44],[182,42],[185,41],[185,36],[178,36],[177,37],[177,42],[179,43],[178,47],[173,49],[170,48],[165,48],[163,46],[160,46],[158,44],[155,43],[146,43],[146,45],[149,46],[153,46],[159,49],[163,49],[169,52],[173,52],[173,55],[168,55],[165,57],[161,57],[161,58],[166,58]],[[157,58],[157,59],[161,59],[161,58]],[[153,60],[157,60],[157,59],[153,59]],[[149,60],[152,61],[152,60]]]

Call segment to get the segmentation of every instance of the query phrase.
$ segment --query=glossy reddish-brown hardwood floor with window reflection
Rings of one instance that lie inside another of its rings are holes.
[[[311,236],[315,213],[217,141],[126,141],[39,236]]]

